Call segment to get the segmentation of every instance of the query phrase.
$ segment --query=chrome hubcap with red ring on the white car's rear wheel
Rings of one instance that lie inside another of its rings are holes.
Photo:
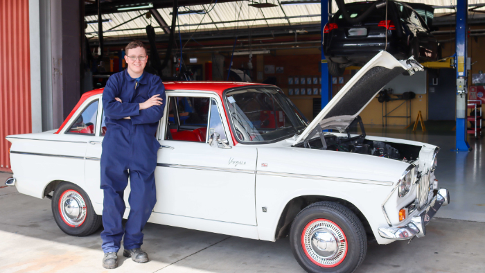
[[[60,212],[66,224],[79,227],[86,218],[86,203],[77,191],[65,191],[59,202]]]

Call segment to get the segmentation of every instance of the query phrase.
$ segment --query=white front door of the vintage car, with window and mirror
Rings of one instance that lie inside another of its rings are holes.
[[[159,130],[154,211],[256,225],[257,150],[233,146],[220,97],[174,92],[167,99]],[[220,134],[221,142],[211,146],[213,133]]]

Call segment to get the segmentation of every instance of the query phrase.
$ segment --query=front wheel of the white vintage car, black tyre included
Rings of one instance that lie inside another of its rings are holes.
[[[364,261],[367,236],[346,206],[317,202],[300,211],[290,229],[294,257],[307,272],[353,272]]]

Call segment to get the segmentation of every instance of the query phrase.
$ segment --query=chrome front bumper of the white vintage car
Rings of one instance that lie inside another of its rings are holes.
[[[382,238],[392,240],[408,240],[414,236],[421,238],[426,235],[426,225],[431,221],[434,214],[441,206],[450,204],[450,192],[446,188],[440,188],[426,209],[419,215],[414,216],[409,224],[404,227],[380,227],[379,235]]]

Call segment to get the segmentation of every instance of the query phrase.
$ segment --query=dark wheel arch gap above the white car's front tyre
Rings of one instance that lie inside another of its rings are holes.
[[[294,197],[292,200],[288,201],[288,203],[285,205],[285,208],[283,209],[280,215],[278,224],[276,225],[274,238],[278,240],[288,236],[288,234],[290,233],[291,224],[294,218],[297,216],[297,214],[303,209],[305,209],[306,206],[309,206],[310,204],[321,202],[321,201],[330,201],[330,202],[335,202],[338,204],[342,204],[343,206],[346,206],[353,213],[355,213],[355,215],[357,215],[357,217],[359,218],[360,222],[362,222],[362,225],[364,226],[368,240],[369,241],[376,240],[376,237],[374,236],[371,226],[369,224],[369,221],[365,217],[364,213],[362,213],[362,211],[360,211],[360,209],[358,209],[357,206],[355,206],[352,202],[349,202],[342,198],[330,197],[330,196],[324,196],[324,195],[301,195],[298,197]]]

